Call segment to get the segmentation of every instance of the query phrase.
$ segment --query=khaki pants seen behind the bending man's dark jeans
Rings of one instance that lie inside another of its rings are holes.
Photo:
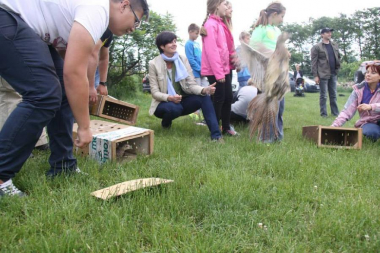
[[[0,76],[0,129],[4,126],[9,114],[11,114],[21,100],[21,95]],[[48,143],[46,127],[44,127],[36,147]]]

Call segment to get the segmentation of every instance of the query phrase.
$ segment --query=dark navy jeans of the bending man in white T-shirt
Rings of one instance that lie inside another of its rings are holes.
[[[62,58],[18,15],[0,8],[0,59],[0,75],[22,96],[0,131],[0,180],[15,177],[45,126],[51,168],[76,168]]]

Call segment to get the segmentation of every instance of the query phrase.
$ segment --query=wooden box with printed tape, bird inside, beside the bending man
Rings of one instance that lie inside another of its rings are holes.
[[[99,163],[111,160],[129,161],[138,154],[151,155],[153,153],[153,130],[101,120],[92,120],[90,128],[93,141],[83,148],[74,147],[74,153],[90,156]],[[77,129],[78,125],[74,124],[74,140],[77,137]]]

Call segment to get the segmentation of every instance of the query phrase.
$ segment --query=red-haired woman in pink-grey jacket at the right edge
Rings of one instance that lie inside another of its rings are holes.
[[[368,65],[366,69],[365,80],[353,87],[354,91],[331,127],[341,127],[358,109],[360,119],[355,127],[361,127],[364,136],[376,142],[380,139],[380,63]]]

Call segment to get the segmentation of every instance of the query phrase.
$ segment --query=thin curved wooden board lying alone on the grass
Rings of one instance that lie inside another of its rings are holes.
[[[171,183],[174,182],[168,179],[159,179],[159,178],[147,178],[147,179],[137,179],[126,181],[122,183],[115,184],[111,187],[107,187],[95,192],[92,192],[91,195],[99,199],[111,199],[116,196],[123,195],[128,192],[133,192],[138,189],[147,188],[156,186],[162,183]]]

